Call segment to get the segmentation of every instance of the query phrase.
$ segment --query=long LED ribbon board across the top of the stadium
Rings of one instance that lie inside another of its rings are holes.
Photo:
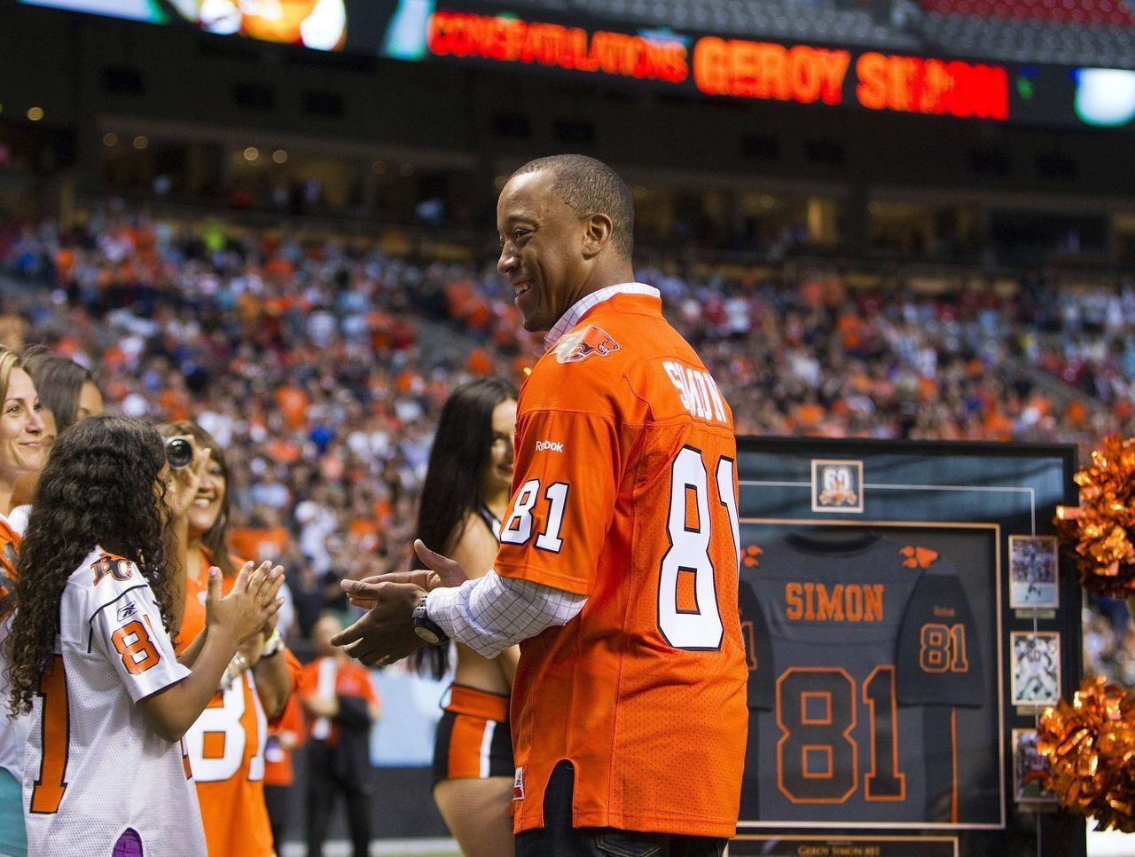
[[[1135,123],[1130,70],[738,37],[541,8],[530,0],[519,6],[501,0],[20,2],[313,50],[544,72],[821,110],[1079,127]]]

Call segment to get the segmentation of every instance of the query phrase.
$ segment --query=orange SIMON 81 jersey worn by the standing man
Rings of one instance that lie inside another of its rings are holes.
[[[495,569],[588,600],[521,644],[518,832],[543,826],[561,759],[575,767],[575,826],[735,832],[748,731],[735,460],[729,405],[656,294],[586,311],[521,389]]]

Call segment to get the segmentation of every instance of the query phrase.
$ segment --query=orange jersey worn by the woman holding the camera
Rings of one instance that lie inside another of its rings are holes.
[[[239,568],[243,561],[234,560]],[[205,627],[205,591],[209,558],[202,562],[197,581],[185,581],[185,617],[177,639],[180,654]],[[221,591],[228,593],[235,577],[221,578]],[[288,658],[293,688],[300,663]],[[276,854],[264,807],[264,743],[268,721],[257,681],[246,670],[227,690],[218,690],[197,721],[185,733],[185,748],[197,785],[201,821],[210,857],[271,857]]]

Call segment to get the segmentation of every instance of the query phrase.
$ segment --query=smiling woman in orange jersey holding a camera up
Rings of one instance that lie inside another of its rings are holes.
[[[159,426],[159,431],[171,465],[184,467],[194,454],[208,455],[186,514],[180,649],[204,625],[202,597],[209,568],[221,570],[221,590],[227,593],[239,561],[228,553],[228,468],[220,446],[187,420]],[[264,807],[264,743],[268,721],[283,714],[299,673],[300,664],[275,624],[266,624],[233,657],[209,707],[185,736],[210,857],[271,857],[276,852]]]

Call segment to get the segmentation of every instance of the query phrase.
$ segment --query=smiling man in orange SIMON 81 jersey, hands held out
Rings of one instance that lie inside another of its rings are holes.
[[[520,393],[494,569],[345,581],[364,663],[446,637],[521,644],[518,855],[718,855],[735,830],[748,711],[737,607],[733,420],[633,283],[633,204],[605,165],[540,159],[497,203],[501,272],[549,330]]]

